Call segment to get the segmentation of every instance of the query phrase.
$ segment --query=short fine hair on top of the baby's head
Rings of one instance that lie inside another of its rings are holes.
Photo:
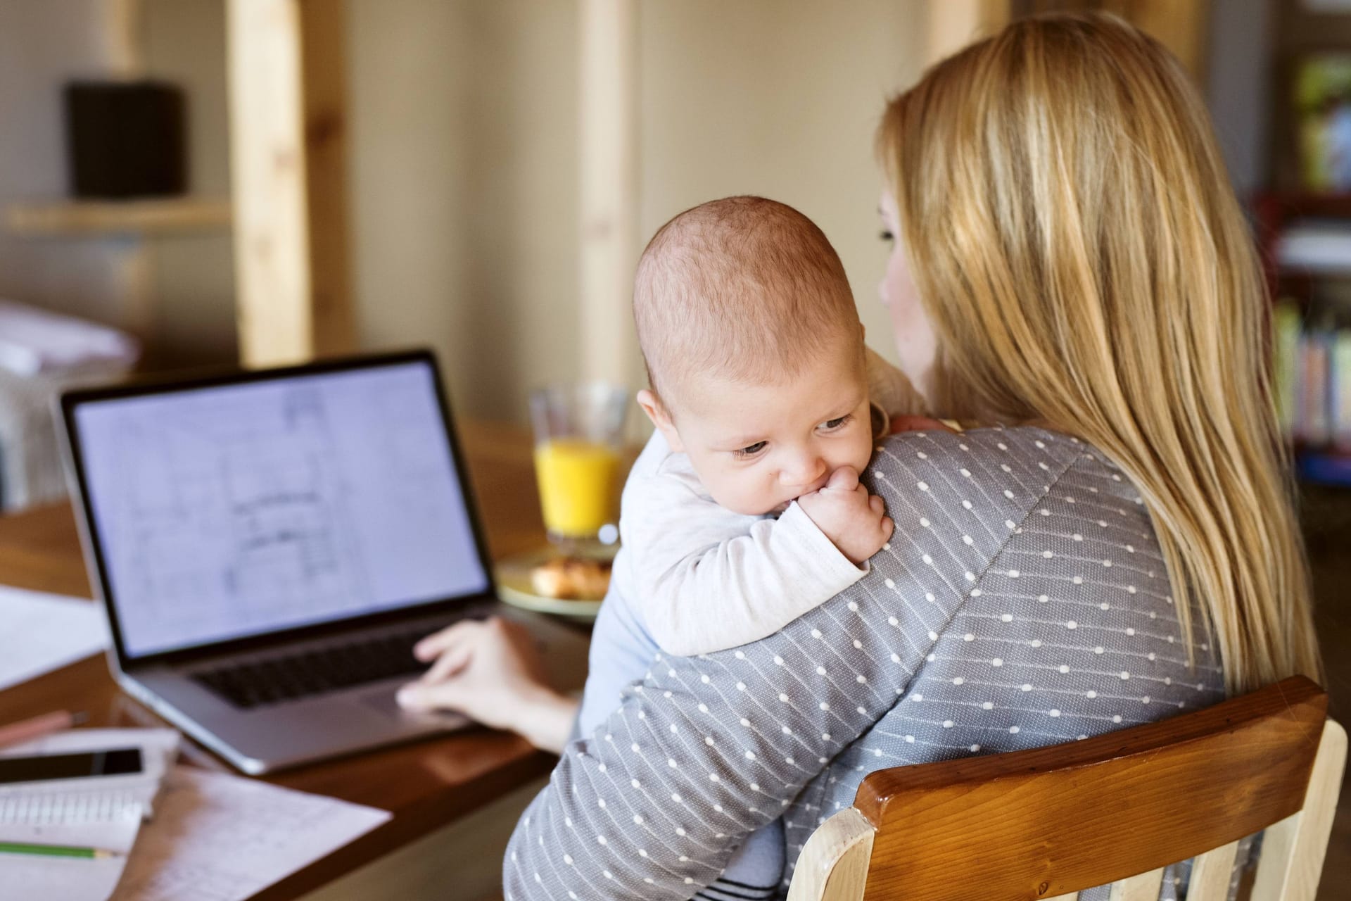
[[[792,377],[862,327],[844,266],[816,224],[765,197],[686,209],[648,242],[634,320],[653,390],[692,373],[751,384]]]

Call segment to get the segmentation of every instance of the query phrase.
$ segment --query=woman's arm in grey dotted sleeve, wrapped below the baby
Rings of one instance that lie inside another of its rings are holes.
[[[897,531],[871,573],[763,642],[658,659],[565,750],[512,838],[507,897],[688,898],[715,879],[890,709],[1002,548],[1002,524],[1021,523],[1054,480],[994,467],[1004,435],[890,439],[870,478]],[[967,457],[967,443],[989,447]],[[1000,527],[963,534],[965,497]]]

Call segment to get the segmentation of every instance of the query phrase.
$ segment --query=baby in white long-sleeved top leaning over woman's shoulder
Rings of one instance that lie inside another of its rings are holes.
[[[893,524],[858,474],[886,412],[915,407],[866,351],[825,235],[771,200],[715,200],[666,223],[638,263],[634,317],[651,384],[638,403],[657,431],[624,486],[581,735],[658,651],[755,642],[862,578]],[[769,897],[782,869],[775,821],[720,885]]]

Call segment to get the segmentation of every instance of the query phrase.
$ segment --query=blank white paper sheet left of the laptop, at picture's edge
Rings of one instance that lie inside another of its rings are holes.
[[[0,585],[0,690],[108,647],[99,604]]]

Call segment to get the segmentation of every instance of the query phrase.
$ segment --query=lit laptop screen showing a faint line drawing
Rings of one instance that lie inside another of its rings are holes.
[[[426,361],[81,403],[128,657],[486,592]]]

